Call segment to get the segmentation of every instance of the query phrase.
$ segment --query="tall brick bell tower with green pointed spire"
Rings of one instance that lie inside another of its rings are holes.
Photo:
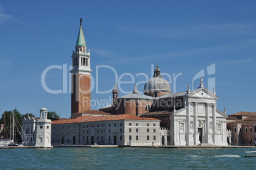
[[[71,115],[80,111],[90,110],[90,50],[87,52],[83,35],[82,18],[76,41],[76,52],[72,53],[72,94]]]

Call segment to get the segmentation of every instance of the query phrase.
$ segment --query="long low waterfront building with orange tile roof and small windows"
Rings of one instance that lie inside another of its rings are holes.
[[[134,115],[82,116],[52,122],[53,145],[160,145],[160,120]]]

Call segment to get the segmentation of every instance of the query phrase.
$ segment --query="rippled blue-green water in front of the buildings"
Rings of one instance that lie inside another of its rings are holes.
[[[1,169],[256,168],[245,148],[31,148],[1,149],[0,156]]]

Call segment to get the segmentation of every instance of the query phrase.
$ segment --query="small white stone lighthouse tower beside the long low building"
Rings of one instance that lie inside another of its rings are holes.
[[[48,110],[40,110],[40,118],[36,120],[36,148],[52,148],[51,145],[51,120],[47,119]]]

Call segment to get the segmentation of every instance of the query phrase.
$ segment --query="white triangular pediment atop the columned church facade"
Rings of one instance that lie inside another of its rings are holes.
[[[193,90],[188,94],[188,97],[204,98],[204,99],[218,99],[218,96],[210,92],[210,90],[205,87]]]

